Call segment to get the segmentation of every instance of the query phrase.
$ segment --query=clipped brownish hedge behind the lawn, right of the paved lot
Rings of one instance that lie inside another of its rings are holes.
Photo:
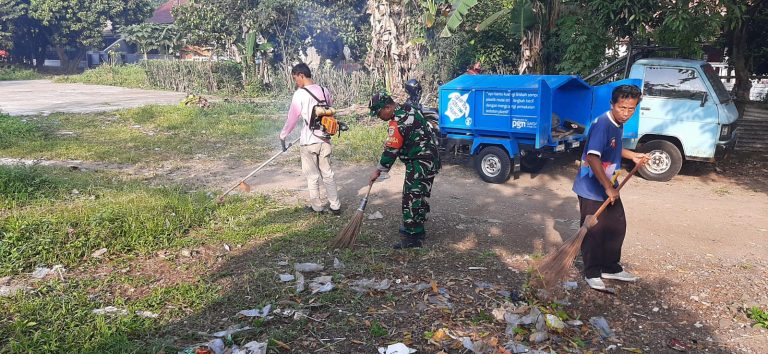
[[[142,66],[150,84],[159,88],[195,93],[243,90],[240,64],[233,61],[148,60]]]

